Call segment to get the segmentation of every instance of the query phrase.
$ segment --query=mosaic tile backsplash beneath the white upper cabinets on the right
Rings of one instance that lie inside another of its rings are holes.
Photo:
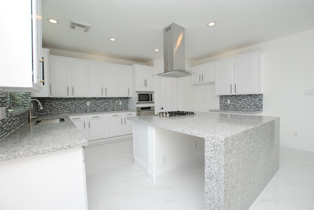
[[[230,100],[230,104],[228,104]],[[229,110],[263,110],[263,94],[219,96],[219,108]]]

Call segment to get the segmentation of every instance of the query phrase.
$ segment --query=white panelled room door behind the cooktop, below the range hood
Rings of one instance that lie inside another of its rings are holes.
[[[177,110],[177,79],[160,79],[160,111]]]

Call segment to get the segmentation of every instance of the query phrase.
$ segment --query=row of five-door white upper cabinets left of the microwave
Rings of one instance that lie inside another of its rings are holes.
[[[52,97],[131,97],[131,66],[51,55]]]

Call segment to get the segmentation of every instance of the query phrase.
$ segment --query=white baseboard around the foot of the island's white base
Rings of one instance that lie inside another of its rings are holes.
[[[190,166],[193,166],[193,165],[198,164],[200,162],[204,162],[204,158],[205,158],[205,156],[193,157],[192,159],[190,159],[186,162],[183,162],[183,163],[178,164],[178,165],[174,165],[174,166],[172,166],[166,170],[160,171],[156,174],[154,174],[150,170],[147,170],[147,179],[149,179],[153,183],[157,183],[157,182],[159,182],[165,178],[168,178],[171,175],[174,175],[174,174],[182,171],[186,167],[190,167]]]

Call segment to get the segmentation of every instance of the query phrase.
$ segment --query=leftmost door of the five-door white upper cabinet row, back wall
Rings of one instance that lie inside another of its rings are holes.
[[[69,97],[69,60],[51,56],[51,93],[52,96]]]

